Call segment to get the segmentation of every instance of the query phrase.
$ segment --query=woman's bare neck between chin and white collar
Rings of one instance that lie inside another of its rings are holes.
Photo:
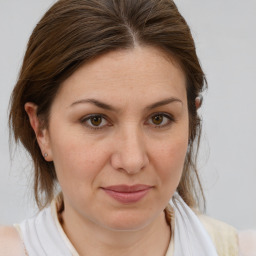
[[[69,217],[64,210],[62,226],[81,256],[164,256],[169,246],[171,230],[162,212],[152,223],[136,231],[113,231],[77,216]]]

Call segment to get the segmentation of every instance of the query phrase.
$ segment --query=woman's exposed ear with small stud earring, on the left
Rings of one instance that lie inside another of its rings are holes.
[[[49,131],[42,126],[42,120],[37,116],[37,105],[31,102],[25,104],[25,111],[28,114],[30,125],[35,132],[37,143],[46,161],[52,161],[52,151]]]

